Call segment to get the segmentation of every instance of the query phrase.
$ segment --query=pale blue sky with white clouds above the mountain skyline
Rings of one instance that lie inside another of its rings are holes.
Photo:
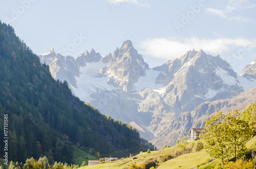
[[[256,59],[255,1],[0,0],[0,19],[37,54],[104,56],[129,39],[150,67],[193,48],[220,54],[238,74]]]

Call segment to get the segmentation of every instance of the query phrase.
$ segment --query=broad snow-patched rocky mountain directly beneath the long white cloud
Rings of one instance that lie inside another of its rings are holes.
[[[188,51],[155,70],[161,71],[158,82],[166,84],[163,98],[176,112],[191,111],[205,100],[230,98],[244,91],[230,65],[202,49]]]

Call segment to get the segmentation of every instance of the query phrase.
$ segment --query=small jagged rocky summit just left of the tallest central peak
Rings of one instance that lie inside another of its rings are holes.
[[[95,52],[94,49],[91,50],[89,53],[88,50],[81,53],[77,59],[76,62],[79,66],[84,67],[86,66],[86,63],[92,63],[92,62],[99,62],[101,60],[101,55],[99,52]]]

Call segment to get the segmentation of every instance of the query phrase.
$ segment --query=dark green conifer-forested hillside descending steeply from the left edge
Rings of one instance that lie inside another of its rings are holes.
[[[49,67],[0,21],[0,138],[8,115],[9,161],[47,155],[72,163],[77,145],[96,156],[141,151],[139,133],[106,117],[73,96],[67,82],[55,81]],[[4,153],[3,141],[0,154]]]

